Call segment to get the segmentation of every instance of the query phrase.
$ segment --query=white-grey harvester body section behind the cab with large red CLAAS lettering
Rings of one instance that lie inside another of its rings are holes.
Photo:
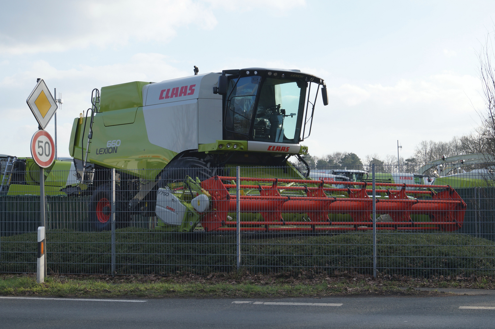
[[[150,143],[180,153],[222,139],[222,96],[213,94],[217,73],[143,87],[143,114]]]

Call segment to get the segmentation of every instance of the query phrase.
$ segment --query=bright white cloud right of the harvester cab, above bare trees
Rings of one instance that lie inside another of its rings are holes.
[[[328,86],[329,105],[317,100],[311,137],[303,143],[312,155],[345,150],[363,158],[394,154],[399,140],[407,158],[423,140],[449,141],[473,131],[479,125],[475,109],[484,111],[480,87],[478,78],[453,72],[394,84]]]

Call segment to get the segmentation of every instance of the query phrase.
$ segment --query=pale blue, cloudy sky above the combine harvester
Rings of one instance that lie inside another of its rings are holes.
[[[8,1],[0,11],[0,153],[30,156],[26,98],[57,90],[58,156],[91,91],[225,69],[300,69],[326,81],[309,153],[413,155],[473,131],[484,109],[477,52],[495,1]],[[47,127],[53,136],[54,120]]]

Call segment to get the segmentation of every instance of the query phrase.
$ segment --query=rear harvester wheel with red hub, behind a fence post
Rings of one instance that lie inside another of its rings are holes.
[[[115,192],[116,212],[115,227],[121,228],[127,226],[130,220],[130,213],[125,211],[125,202],[121,201],[120,193]],[[91,196],[88,219],[93,231],[108,231],[111,229],[111,196],[110,184],[101,184]],[[121,205],[122,203],[122,205]]]

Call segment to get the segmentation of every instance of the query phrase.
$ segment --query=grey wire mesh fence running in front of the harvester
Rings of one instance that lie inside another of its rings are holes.
[[[183,162],[116,170],[113,209],[111,170],[80,182],[47,169],[49,273],[374,273],[370,166],[241,166],[238,191],[236,165]],[[420,167],[375,164],[377,274],[494,277],[495,176]],[[40,172],[28,169],[1,178],[0,272],[36,271]]]

